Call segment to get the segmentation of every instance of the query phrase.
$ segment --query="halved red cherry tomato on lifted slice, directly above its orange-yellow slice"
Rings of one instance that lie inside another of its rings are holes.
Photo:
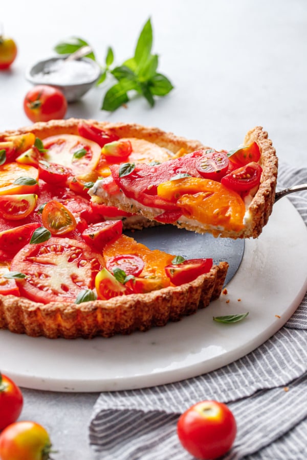
[[[262,168],[258,163],[248,163],[222,177],[221,183],[236,192],[244,192],[259,185],[261,172]]]

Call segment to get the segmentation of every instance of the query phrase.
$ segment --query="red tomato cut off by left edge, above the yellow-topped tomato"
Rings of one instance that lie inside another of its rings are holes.
[[[23,403],[19,387],[0,373],[0,431],[18,419]]]

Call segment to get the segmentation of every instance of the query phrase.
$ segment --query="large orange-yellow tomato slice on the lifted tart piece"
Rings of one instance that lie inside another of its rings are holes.
[[[234,231],[244,226],[243,199],[220,182],[184,177],[160,184],[157,193],[164,199],[176,202],[189,219]]]

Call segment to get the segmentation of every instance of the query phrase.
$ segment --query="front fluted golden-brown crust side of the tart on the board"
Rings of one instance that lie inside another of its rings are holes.
[[[220,296],[227,270],[228,263],[220,262],[191,283],[79,305],[44,305],[23,297],[0,295],[0,328],[32,337],[66,339],[147,331],[207,307]]]

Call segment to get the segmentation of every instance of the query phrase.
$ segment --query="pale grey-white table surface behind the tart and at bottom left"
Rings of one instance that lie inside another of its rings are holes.
[[[93,88],[67,116],[158,126],[215,148],[235,148],[255,125],[273,140],[280,161],[306,164],[307,4],[305,0],[53,0],[5,2],[1,21],[18,45],[11,71],[0,73],[0,130],[31,124],[23,99],[31,85],[26,68],[54,55],[54,45],[79,36],[100,62],[112,45],[118,64],[133,55],[151,17],[159,71],[171,94],[150,109],[141,99],[109,114],[100,110],[106,87]],[[2,350],[1,353],[5,351]],[[0,356],[1,369],[1,356]],[[54,459],[93,459],[87,426],[98,394],[23,388],[21,420],[45,426]]]

